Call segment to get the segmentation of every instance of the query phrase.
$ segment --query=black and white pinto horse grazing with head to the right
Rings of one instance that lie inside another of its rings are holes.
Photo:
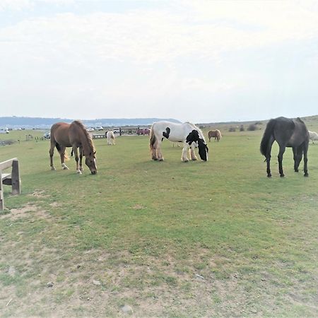
[[[187,163],[187,153],[190,150],[191,160],[197,160],[194,148],[199,148],[200,158],[204,161],[208,160],[208,146],[202,131],[189,122],[177,124],[175,122],[155,122],[151,126],[150,148],[151,159],[163,161],[161,153],[161,143],[164,139],[172,141],[172,143],[183,142],[181,160]]]

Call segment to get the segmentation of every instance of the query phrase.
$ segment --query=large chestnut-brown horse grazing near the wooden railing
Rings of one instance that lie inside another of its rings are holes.
[[[76,172],[81,174],[83,171],[82,158],[86,157],[85,163],[90,168],[92,175],[97,173],[95,149],[92,139],[88,135],[84,125],[78,120],[67,124],[66,122],[57,122],[51,127],[51,147],[49,148],[49,160],[51,163],[51,169],[55,170],[53,165],[53,153],[54,147],[57,147],[59,155],[61,156],[61,165],[64,170],[69,169],[64,163],[65,148],[72,147],[73,153],[75,153]],[[79,166],[78,166],[78,151],[79,148]]]

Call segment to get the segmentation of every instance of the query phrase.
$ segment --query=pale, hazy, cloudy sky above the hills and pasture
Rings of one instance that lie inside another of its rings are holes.
[[[0,117],[318,114],[318,1],[0,0]]]

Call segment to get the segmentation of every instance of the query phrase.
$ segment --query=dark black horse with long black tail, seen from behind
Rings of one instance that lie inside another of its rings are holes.
[[[283,173],[283,153],[286,147],[293,148],[294,154],[294,170],[298,172],[302,153],[304,154],[304,176],[308,177],[307,172],[307,151],[309,144],[309,133],[302,119],[289,119],[278,117],[271,119],[264,131],[264,136],[261,139],[261,154],[265,156],[267,163],[267,177],[271,177],[271,146],[276,141],[279,146],[278,166],[279,174],[284,177]]]

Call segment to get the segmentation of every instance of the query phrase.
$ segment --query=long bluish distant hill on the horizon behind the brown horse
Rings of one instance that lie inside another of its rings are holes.
[[[38,128],[47,129],[56,122],[73,122],[75,119],[66,118],[41,118],[41,117],[0,117],[0,127],[17,128]],[[177,119],[160,118],[102,118],[102,119],[81,119],[86,126],[148,126],[160,120],[179,122]]]

